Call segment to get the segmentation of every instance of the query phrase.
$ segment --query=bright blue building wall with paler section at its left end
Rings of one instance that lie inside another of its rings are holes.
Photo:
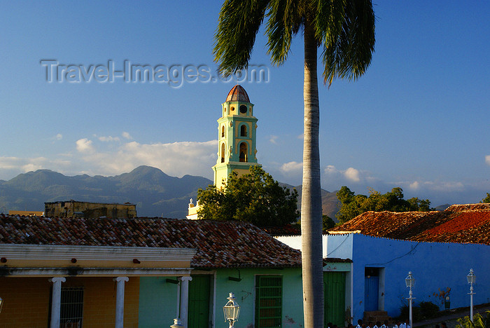
[[[386,310],[391,317],[398,316],[400,307],[407,304],[405,278],[409,271],[416,279],[412,289],[415,303],[431,301],[443,309],[442,299],[437,294],[450,288],[451,308],[469,306],[470,286],[466,275],[470,268],[477,275],[475,304],[490,302],[488,245],[410,242],[361,234],[328,235],[327,240],[328,257],[345,258],[351,252],[354,322],[361,319],[364,313],[364,275],[367,267],[380,268],[382,294],[379,296],[379,310]]]

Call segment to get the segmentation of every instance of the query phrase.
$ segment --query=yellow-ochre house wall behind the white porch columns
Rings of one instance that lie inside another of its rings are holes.
[[[0,328],[48,327],[49,278],[0,278],[3,309]],[[62,287],[83,288],[83,327],[114,327],[116,323],[116,282],[113,278],[67,277]],[[124,327],[138,327],[139,278],[125,283]]]

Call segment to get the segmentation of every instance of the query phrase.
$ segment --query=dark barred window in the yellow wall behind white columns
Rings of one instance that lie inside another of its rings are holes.
[[[83,287],[62,287],[59,323],[62,328],[82,327]]]

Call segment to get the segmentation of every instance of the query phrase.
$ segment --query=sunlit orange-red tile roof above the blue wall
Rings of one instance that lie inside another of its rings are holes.
[[[365,212],[330,231],[420,242],[490,245],[490,204],[452,205],[441,212]]]

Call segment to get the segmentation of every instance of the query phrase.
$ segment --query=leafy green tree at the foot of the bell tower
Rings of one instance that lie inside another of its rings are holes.
[[[280,186],[269,173],[252,165],[250,172],[230,175],[223,189],[197,191],[200,219],[248,221],[255,226],[284,226],[300,216],[297,191]]]

